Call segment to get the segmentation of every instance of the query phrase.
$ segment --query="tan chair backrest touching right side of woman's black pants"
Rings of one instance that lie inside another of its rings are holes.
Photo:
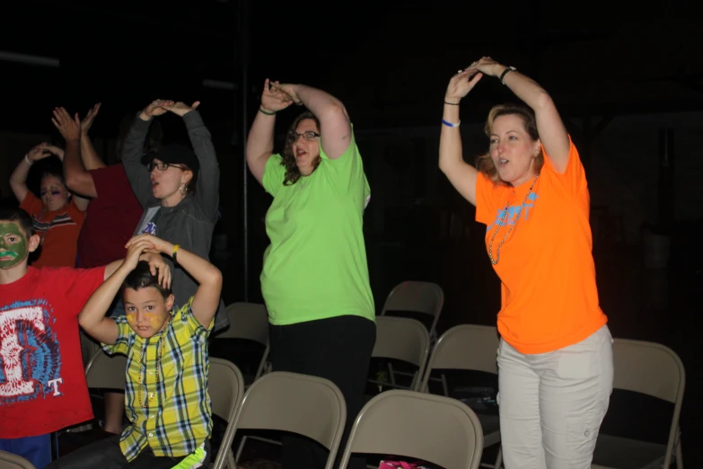
[[[376,316],[376,342],[372,358],[394,358],[425,369],[429,353],[429,333],[415,319]],[[421,376],[421,375],[418,375]]]

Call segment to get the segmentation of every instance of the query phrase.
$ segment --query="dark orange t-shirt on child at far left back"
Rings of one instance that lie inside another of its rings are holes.
[[[75,206],[74,199],[59,210],[48,211],[44,202],[28,191],[20,208],[34,220],[37,235],[43,237],[40,256],[32,267],[75,267],[78,235],[85,219],[85,212]]]

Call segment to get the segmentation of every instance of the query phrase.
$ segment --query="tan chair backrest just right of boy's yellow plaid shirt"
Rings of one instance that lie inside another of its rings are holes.
[[[210,357],[209,360],[207,392],[210,394],[213,413],[229,422],[242,403],[244,378],[239,368],[231,361],[215,357]]]

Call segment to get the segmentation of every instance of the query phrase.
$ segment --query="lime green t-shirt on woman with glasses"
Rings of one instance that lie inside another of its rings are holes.
[[[268,158],[264,189],[271,244],[264,252],[261,293],[274,325],[341,315],[374,320],[364,243],[364,209],[371,190],[356,139],[332,160],[322,151],[310,175],[285,186],[281,155]]]

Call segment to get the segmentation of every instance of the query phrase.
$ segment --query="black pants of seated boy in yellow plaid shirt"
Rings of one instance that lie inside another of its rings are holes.
[[[205,452],[207,456],[203,467],[207,467],[210,460],[209,440],[205,441]],[[51,463],[46,469],[171,469],[186,457],[154,456],[152,450],[146,447],[139,456],[128,462],[119,449],[119,435],[115,435],[76,449]]]

